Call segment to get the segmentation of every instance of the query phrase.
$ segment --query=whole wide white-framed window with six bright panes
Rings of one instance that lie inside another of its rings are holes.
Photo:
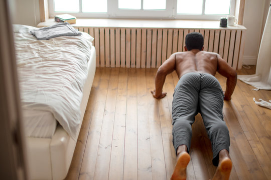
[[[235,0],[49,0],[49,14],[80,17],[219,19],[233,15]]]

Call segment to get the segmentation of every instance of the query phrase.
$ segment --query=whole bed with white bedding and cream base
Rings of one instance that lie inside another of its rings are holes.
[[[14,25],[30,179],[67,175],[95,74],[93,37],[37,40]]]

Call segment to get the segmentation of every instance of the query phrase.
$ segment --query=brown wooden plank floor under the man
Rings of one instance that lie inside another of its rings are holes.
[[[81,131],[66,179],[170,179],[176,163],[172,145],[172,95],[175,72],[166,78],[167,96],[151,94],[157,69],[97,68]],[[255,67],[238,74],[253,74]],[[225,78],[217,74],[223,90]],[[224,101],[233,168],[230,179],[271,179],[271,109],[253,97],[271,99],[271,91],[251,90],[237,81]],[[198,114],[192,125],[188,179],[210,179],[211,144]]]

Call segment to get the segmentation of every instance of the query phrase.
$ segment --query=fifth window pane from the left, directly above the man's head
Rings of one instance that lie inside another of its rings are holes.
[[[202,0],[177,0],[177,13],[201,14]]]

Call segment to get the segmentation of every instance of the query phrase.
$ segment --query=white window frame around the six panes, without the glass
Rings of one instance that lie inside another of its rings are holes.
[[[107,12],[54,12],[54,0],[48,0],[49,17],[62,13],[69,13],[77,18],[139,18],[139,19],[189,19],[189,20],[218,20],[221,16],[234,15],[236,0],[231,0],[229,14],[204,14],[205,0],[203,0],[203,14],[177,14],[177,0],[167,0],[166,10],[118,9],[118,0],[107,0]],[[143,0],[142,0],[143,8]]]

